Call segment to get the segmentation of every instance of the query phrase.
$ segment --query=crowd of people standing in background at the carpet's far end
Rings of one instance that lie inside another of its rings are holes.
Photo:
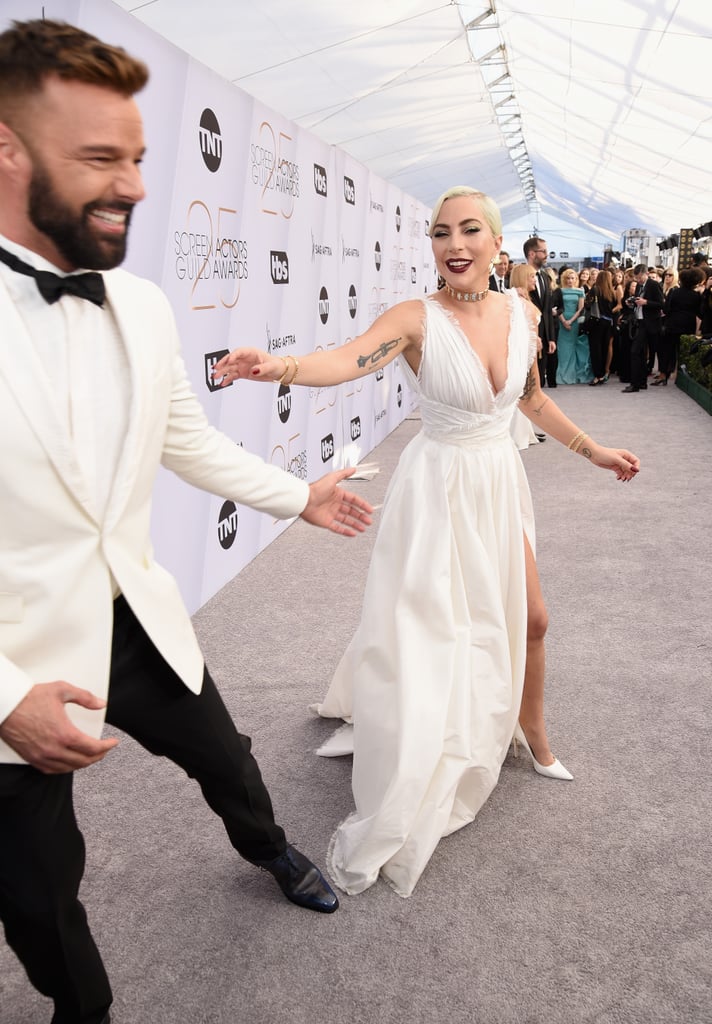
[[[712,267],[703,253],[693,265],[616,261],[602,268],[546,265],[548,246],[533,237],[525,260],[500,254],[490,288],[517,288],[539,309],[542,386],[606,384],[612,375],[626,394],[667,385],[677,371],[683,335],[712,336]]]

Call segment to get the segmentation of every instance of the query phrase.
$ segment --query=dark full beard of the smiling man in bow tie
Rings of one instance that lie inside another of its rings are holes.
[[[104,205],[99,201],[87,203],[77,216],[57,196],[45,169],[35,161],[28,197],[28,214],[35,227],[51,239],[73,267],[111,270],[123,262],[133,206],[130,203],[112,202],[113,210],[126,212],[126,230],[116,238],[99,239],[89,226],[89,215],[92,210]]]

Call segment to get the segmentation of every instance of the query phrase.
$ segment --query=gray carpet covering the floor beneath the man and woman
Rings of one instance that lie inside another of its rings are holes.
[[[559,387],[632,483],[551,439],[523,453],[551,625],[547,720],[573,783],[509,757],[410,900],[382,883],[322,916],[239,860],[197,787],[130,739],[77,778],[83,898],[114,1024],[703,1024],[710,935],[712,418],[674,387]],[[382,500],[407,421],[358,484]],[[349,761],[312,751],[359,617],[372,536],[301,521],[196,616],[291,840],[323,864]],[[426,585],[427,565],[423,565]],[[51,1014],[0,945],[0,1021]]]

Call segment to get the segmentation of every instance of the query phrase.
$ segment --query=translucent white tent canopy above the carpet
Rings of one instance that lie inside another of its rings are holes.
[[[699,0],[119,2],[427,205],[490,193],[508,245],[585,255],[712,214]]]

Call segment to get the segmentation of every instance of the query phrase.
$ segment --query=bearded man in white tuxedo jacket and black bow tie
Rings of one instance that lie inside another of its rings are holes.
[[[346,536],[372,510],[338,486],[347,472],[307,485],[212,429],[166,298],[115,269],[143,197],[132,97],[146,77],[70,26],[0,36],[0,919],[53,1024],[103,1024],[112,1002],[78,899],[72,807],[74,770],[117,742],[101,738],[104,715],[196,778],[233,846],[290,900],[338,905],[276,823],[154,560],[151,500],[163,464]]]

